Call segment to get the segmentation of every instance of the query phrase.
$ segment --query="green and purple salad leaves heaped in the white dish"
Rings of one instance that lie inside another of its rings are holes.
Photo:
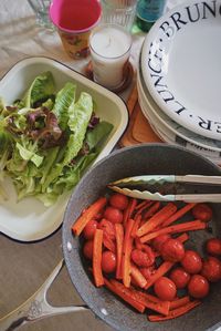
[[[92,96],[82,91],[76,99],[76,90],[66,82],[55,92],[52,73],[43,72],[12,105],[0,99],[0,182],[10,176],[18,199],[54,204],[78,183],[112,132],[96,116]]]

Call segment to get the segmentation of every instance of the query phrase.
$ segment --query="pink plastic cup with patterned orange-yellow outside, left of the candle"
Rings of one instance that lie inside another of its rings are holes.
[[[49,13],[67,54],[75,60],[86,58],[91,30],[102,15],[99,0],[53,0]]]

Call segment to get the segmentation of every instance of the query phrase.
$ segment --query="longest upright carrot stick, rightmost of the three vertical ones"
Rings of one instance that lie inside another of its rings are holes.
[[[130,254],[133,246],[133,238],[130,236],[134,226],[134,219],[129,218],[125,228],[125,237],[123,244],[123,258],[122,258],[122,275],[123,282],[126,288],[130,286]]]

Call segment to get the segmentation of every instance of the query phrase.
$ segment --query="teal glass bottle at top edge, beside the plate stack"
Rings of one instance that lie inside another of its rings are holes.
[[[149,31],[151,25],[165,12],[167,0],[139,0],[136,10],[136,23],[145,32]]]

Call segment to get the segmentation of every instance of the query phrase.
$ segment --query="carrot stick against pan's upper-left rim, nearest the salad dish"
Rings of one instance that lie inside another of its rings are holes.
[[[75,236],[80,236],[87,223],[95,217],[106,205],[106,197],[98,198],[94,204],[92,204],[84,213],[77,218],[77,220],[72,226],[72,231]]]

